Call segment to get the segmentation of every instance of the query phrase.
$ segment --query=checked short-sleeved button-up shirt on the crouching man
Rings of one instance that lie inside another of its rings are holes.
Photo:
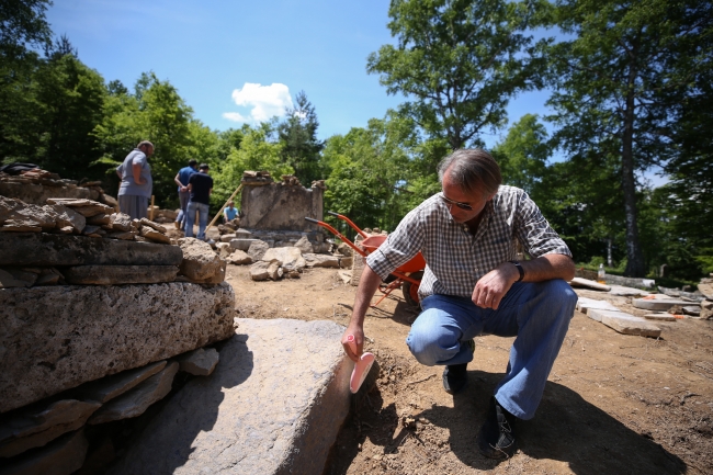
[[[476,235],[453,220],[438,193],[404,217],[388,239],[366,258],[382,279],[421,251],[427,267],[419,297],[431,294],[471,297],[478,280],[498,264],[516,259],[516,239],[532,258],[571,257],[569,248],[528,194],[500,186],[484,208]]]

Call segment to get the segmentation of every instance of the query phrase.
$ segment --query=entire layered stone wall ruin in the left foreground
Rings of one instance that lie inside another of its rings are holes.
[[[235,335],[226,261],[44,170],[0,193],[0,473],[102,473],[110,434]]]

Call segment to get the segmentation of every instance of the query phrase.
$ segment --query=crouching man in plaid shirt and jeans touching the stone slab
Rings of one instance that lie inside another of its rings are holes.
[[[480,453],[507,459],[516,450],[513,423],[534,416],[574,315],[577,295],[566,281],[574,278],[575,264],[528,194],[500,185],[500,169],[488,152],[457,150],[438,171],[442,192],[408,213],[366,258],[341,342],[356,361],[374,291],[421,251],[427,262],[419,287],[423,312],[406,343],[421,364],[445,366],[446,392],[465,386],[474,337],[517,337],[478,434]],[[514,260],[516,239],[531,260]]]

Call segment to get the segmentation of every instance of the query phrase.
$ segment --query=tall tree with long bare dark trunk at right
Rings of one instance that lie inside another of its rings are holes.
[[[663,163],[672,151],[666,104],[687,87],[687,73],[670,70],[680,37],[698,2],[679,0],[561,0],[556,22],[575,39],[555,45],[556,91],[547,117],[561,126],[556,140],[573,157],[599,160],[614,154],[623,192],[626,275],[644,276],[640,246],[636,172]],[[710,15],[709,15],[710,16]],[[663,21],[665,20],[665,21]]]

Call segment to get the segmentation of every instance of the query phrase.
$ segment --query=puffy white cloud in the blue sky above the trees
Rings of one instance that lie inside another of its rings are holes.
[[[290,88],[279,82],[270,86],[246,82],[242,89],[233,91],[233,100],[242,108],[252,108],[247,117],[238,112],[223,113],[223,117],[234,122],[265,122],[275,115],[282,117],[285,108],[293,106]]]

